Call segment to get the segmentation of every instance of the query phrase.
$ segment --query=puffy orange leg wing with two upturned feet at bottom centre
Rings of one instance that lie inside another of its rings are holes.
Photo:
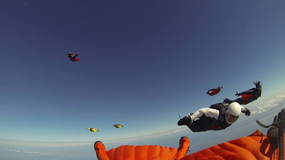
[[[181,137],[179,148],[168,148],[158,145],[121,145],[106,151],[101,141],[94,143],[94,150],[98,160],[180,160],[187,154],[190,141]]]

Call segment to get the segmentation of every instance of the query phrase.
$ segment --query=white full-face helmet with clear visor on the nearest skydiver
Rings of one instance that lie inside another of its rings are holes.
[[[238,120],[240,114],[241,114],[240,104],[238,104],[237,102],[233,102],[229,104],[228,109],[226,111],[226,121],[229,124],[232,124]]]

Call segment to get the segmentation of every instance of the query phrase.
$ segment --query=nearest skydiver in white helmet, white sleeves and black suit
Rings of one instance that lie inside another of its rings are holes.
[[[194,113],[189,113],[178,121],[178,126],[186,125],[192,132],[203,132],[208,130],[221,130],[229,127],[239,116],[245,113],[250,115],[248,108],[240,106],[238,103],[217,103],[210,108],[202,108]],[[180,117],[180,116],[179,116]],[[195,121],[196,118],[199,118]]]

